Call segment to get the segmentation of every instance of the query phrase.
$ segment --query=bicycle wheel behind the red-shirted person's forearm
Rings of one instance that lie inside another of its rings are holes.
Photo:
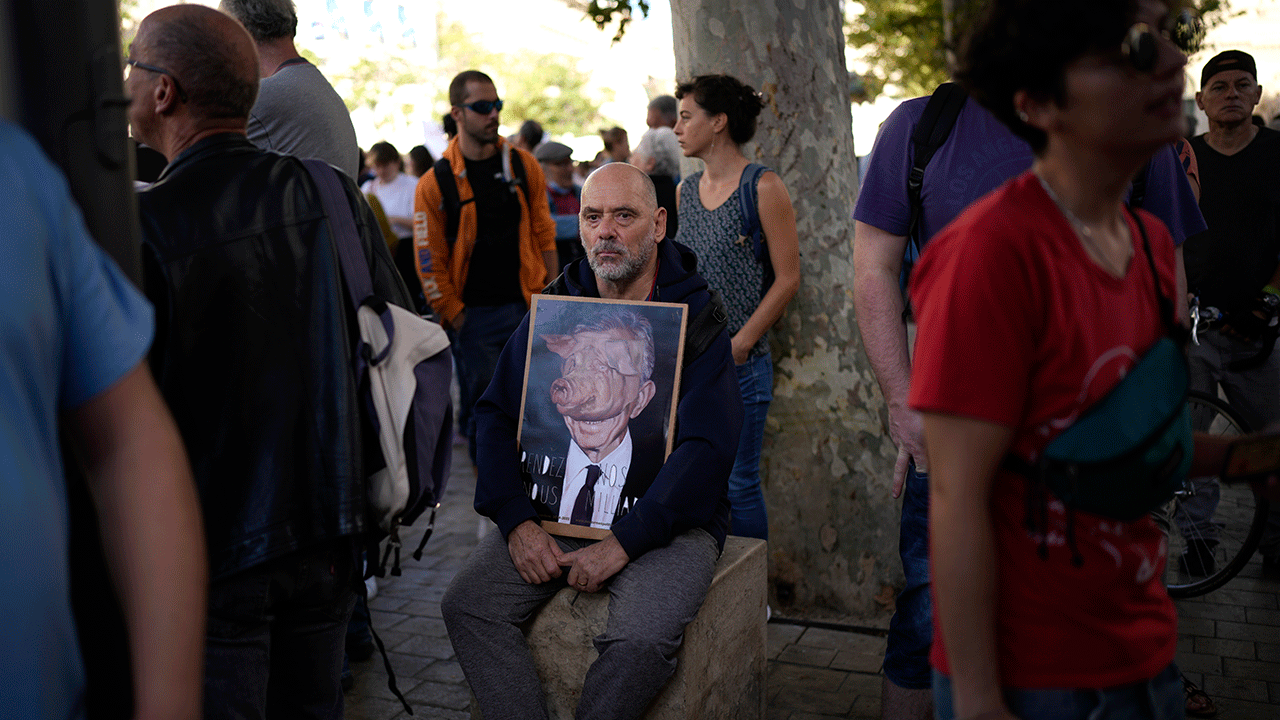
[[[1199,432],[1224,437],[1249,432],[1240,415],[1217,397],[1192,391],[1188,402]],[[1267,501],[1247,483],[1188,478],[1164,512],[1156,514],[1169,537],[1165,585],[1170,597],[1204,594],[1234,578],[1258,548],[1267,510]]]

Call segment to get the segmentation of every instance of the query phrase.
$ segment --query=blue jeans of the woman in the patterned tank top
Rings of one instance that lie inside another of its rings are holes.
[[[760,491],[760,445],[764,442],[764,418],[773,401],[773,357],[765,352],[739,365],[737,387],[742,391],[744,415],[737,457],[728,477],[732,532],[768,541],[769,516]]]

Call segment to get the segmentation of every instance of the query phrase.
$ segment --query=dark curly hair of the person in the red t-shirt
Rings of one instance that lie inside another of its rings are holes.
[[[1170,14],[1179,0],[1164,0]],[[1024,123],[1014,95],[1066,101],[1066,67],[1091,53],[1117,53],[1138,0],[991,0],[960,44],[956,79],[1037,155],[1048,136]]]

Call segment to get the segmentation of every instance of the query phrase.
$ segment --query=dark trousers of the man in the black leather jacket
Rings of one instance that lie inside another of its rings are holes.
[[[338,541],[210,583],[206,720],[342,720],[353,555]]]

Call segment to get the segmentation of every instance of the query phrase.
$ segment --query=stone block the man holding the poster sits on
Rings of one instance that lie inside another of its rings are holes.
[[[676,674],[649,706],[646,720],[764,719],[765,547],[754,538],[724,542],[707,600],[685,628]],[[579,596],[564,588],[525,630],[552,720],[572,720],[582,678],[596,657],[591,638],[604,632],[608,609],[608,592]],[[480,717],[475,701],[471,717]]]

